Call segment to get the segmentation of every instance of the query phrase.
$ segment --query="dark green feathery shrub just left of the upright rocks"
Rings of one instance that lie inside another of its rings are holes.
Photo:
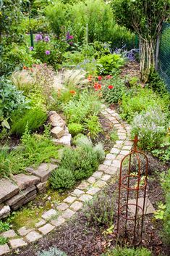
[[[22,135],[26,125],[30,131],[40,128],[47,119],[46,111],[40,107],[26,110],[23,115],[15,113],[12,115],[11,133]]]

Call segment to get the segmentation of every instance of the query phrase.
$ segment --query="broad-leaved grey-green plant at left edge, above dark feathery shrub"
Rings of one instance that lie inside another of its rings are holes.
[[[27,108],[27,101],[22,91],[17,91],[17,88],[12,84],[11,80],[1,77],[0,80],[0,122],[1,125],[9,128],[10,119],[14,110],[20,112]],[[5,122],[3,122],[5,120]]]

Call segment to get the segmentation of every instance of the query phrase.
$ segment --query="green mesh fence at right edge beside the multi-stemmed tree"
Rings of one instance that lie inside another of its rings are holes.
[[[163,23],[158,57],[158,73],[170,91],[170,23]]]

